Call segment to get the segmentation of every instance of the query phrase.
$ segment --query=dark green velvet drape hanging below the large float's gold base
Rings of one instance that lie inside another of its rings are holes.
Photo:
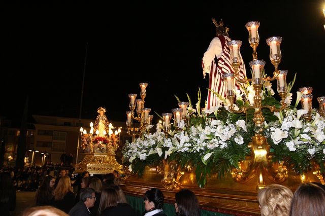
[[[135,209],[136,216],[142,216],[144,212],[143,198],[126,195],[126,199],[128,204],[130,204],[133,207],[133,209]],[[165,203],[163,210],[165,214],[167,214],[168,216],[176,215],[174,204]],[[215,216],[215,215],[228,216],[230,214],[223,214],[223,213],[218,213],[213,211],[201,210],[201,216]]]

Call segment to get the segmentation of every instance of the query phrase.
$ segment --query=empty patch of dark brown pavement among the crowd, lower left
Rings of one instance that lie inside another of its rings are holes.
[[[35,193],[36,192],[17,191],[16,209],[11,212],[11,215],[19,216],[27,207],[34,205]]]

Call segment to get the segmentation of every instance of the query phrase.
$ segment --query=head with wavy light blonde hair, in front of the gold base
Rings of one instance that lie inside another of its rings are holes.
[[[260,189],[257,194],[262,216],[288,215],[293,192],[278,184]]]

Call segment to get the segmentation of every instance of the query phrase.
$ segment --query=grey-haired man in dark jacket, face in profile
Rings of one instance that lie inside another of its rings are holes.
[[[95,191],[92,188],[84,188],[80,191],[80,201],[69,211],[70,216],[89,216],[89,208],[95,203]]]

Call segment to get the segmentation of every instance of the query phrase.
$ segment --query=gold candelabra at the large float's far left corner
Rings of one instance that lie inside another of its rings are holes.
[[[129,109],[131,111],[126,112],[126,127],[127,127],[127,134],[133,137],[133,140],[137,136],[142,136],[144,133],[147,132],[147,126],[151,125],[151,121],[153,116],[149,115],[151,109],[144,107],[144,99],[147,95],[146,88],[148,86],[147,83],[140,83],[140,97],[141,99],[136,99],[137,94],[128,94],[129,97]],[[135,116],[135,110],[137,116]],[[136,120],[140,123],[140,127],[136,127],[136,124],[133,122]]]

